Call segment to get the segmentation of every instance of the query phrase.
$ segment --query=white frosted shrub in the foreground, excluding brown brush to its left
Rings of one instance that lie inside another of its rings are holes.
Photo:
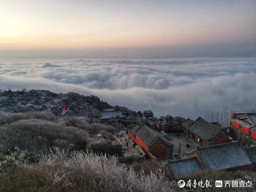
[[[79,187],[86,191],[174,191],[175,183],[164,181],[160,172],[138,174],[132,167],[120,164],[117,157],[107,158],[82,151],[67,154],[54,148],[55,153],[40,156],[37,165],[52,185]],[[75,186],[79,185],[79,186]]]

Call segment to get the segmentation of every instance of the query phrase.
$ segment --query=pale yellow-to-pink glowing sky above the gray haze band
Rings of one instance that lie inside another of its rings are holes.
[[[119,56],[119,49],[134,48],[174,57],[207,56],[194,53],[195,48],[208,54],[227,51],[212,53],[216,57],[230,56],[231,48],[250,57],[255,54],[255,10],[256,2],[247,0],[2,0],[0,51],[111,49]]]

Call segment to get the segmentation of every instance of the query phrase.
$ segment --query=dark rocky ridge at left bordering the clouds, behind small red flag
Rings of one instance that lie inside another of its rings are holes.
[[[63,112],[62,108],[65,108]],[[112,108],[97,96],[84,96],[74,92],[53,93],[48,90],[3,91],[0,93],[0,110],[14,112],[44,111],[57,116],[73,113],[100,112]]]

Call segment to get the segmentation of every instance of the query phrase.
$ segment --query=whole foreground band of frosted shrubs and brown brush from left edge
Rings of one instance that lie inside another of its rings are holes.
[[[54,151],[54,152],[53,152]],[[117,157],[107,158],[75,151],[71,154],[53,148],[26,164],[24,155],[0,162],[2,191],[175,191],[176,183],[166,181],[160,171],[136,173]],[[26,158],[25,158],[26,159]],[[15,182],[13,182],[15,179]]]

